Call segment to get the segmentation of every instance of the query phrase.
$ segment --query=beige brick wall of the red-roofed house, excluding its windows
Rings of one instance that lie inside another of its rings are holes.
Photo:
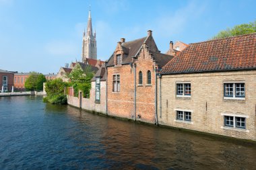
[[[224,81],[245,81],[245,99],[224,99]],[[191,82],[191,97],[177,97],[177,82]],[[162,75],[161,83],[159,124],[256,140],[256,71]],[[191,122],[177,121],[175,109],[191,110]],[[246,129],[227,128],[223,114],[247,116]]]

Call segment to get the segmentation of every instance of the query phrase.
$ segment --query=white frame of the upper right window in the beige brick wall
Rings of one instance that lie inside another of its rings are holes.
[[[223,95],[224,95],[224,99],[240,99],[240,100],[245,100],[245,96],[236,96],[236,85],[239,83],[243,83],[244,84],[244,93],[245,93],[245,81],[224,81],[223,82]],[[232,88],[232,95],[228,96],[226,95],[226,84],[232,84],[232,87],[228,87],[228,89]],[[241,88],[240,88],[241,89]]]

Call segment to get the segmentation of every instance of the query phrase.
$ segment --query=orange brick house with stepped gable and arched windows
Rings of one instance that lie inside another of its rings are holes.
[[[107,114],[142,122],[156,122],[156,70],[173,56],[158,50],[148,36],[117,43],[106,64]]]

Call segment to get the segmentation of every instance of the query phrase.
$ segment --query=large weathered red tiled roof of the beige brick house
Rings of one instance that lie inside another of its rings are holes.
[[[256,33],[189,44],[161,74],[256,69]]]

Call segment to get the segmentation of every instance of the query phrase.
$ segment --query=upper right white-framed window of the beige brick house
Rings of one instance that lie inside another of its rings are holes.
[[[224,83],[224,97],[245,98],[245,83]]]

